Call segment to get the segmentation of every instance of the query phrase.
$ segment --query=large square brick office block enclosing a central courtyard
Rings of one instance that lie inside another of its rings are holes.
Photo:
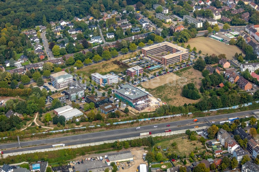
[[[160,62],[165,66],[175,64],[189,58],[189,52],[187,49],[170,42],[162,42],[142,48],[141,52],[144,56]]]

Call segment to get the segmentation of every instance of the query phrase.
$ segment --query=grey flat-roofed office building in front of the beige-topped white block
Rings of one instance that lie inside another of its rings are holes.
[[[84,88],[77,85],[76,87],[69,87],[68,90],[65,90],[65,95],[69,101],[73,101],[77,98],[84,97]]]

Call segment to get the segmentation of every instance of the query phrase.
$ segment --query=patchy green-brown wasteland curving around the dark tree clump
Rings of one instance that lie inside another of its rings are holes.
[[[166,82],[161,80],[160,82],[164,82],[165,83],[164,85],[161,84],[161,86],[156,86],[155,88],[152,89],[151,86],[143,84],[143,87],[146,88],[146,90],[154,97],[160,98],[163,102],[166,102],[171,105],[179,106],[179,105],[184,105],[185,103],[189,104],[189,103],[198,102],[199,100],[191,100],[191,99],[182,97],[181,93],[182,93],[183,85],[187,83],[192,82],[196,85],[198,89],[200,88],[201,80],[203,78],[201,72],[191,67],[183,72],[177,73],[176,75],[178,77],[175,76],[177,78],[175,80],[171,79],[171,82]]]

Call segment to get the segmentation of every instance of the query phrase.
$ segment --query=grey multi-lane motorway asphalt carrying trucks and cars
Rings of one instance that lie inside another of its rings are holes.
[[[164,132],[164,130],[168,130],[168,129],[171,129],[172,131],[177,131],[182,129],[194,128],[195,126],[199,126],[199,127],[207,126],[209,125],[209,123],[206,121],[206,118],[210,120],[210,122],[212,121],[219,122],[219,121],[224,121],[227,118],[248,116],[249,114],[251,114],[251,112],[252,111],[245,111],[245,112],[197,118],[199,121],[198,123],[193,122],[193,119],[188,119],[188,120],[167,122],[162,124],[141,126],[139,129],[136,129],[134,127],[134,128],[125,128],[125,129],[118,129],[118,130],[92,132],[92,133],[80,134],[80,135],[55,137],[55,138],[48,138],[48,139],[41,139],[41,140],[31,140],[31,141],[20,142],[20,146],[22,148],[18,148],[19,147],[18,142],[1,144],[0,148],[1,150],[3,150],[4,153],[11,153],[11,152],[51,148],[53,144],[59,144],[59,143],[63,143],[67,146],[67,145],[76,145],[76,144],[113,140],[113,139],[136,137],[136,136],[139,136],[139,134],[142,132],[152,132],[152,134],[157,134],[157,133]],[[215,122],[214,124],[217,124],[218,122]],[[170,127],[166,127],[166,125],[170,125]],[[154,126],[157,126],[157,127],[154,127]],[[35,147],[30,147],[30,146],[35,146]]]

